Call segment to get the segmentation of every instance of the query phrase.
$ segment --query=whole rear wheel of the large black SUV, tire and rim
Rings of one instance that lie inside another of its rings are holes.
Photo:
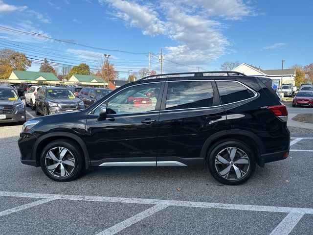
[[[242,184],[255,170],[253,152],[239,141],[225,141],[213,146],[207,164],[212,176],[225,185]]]

